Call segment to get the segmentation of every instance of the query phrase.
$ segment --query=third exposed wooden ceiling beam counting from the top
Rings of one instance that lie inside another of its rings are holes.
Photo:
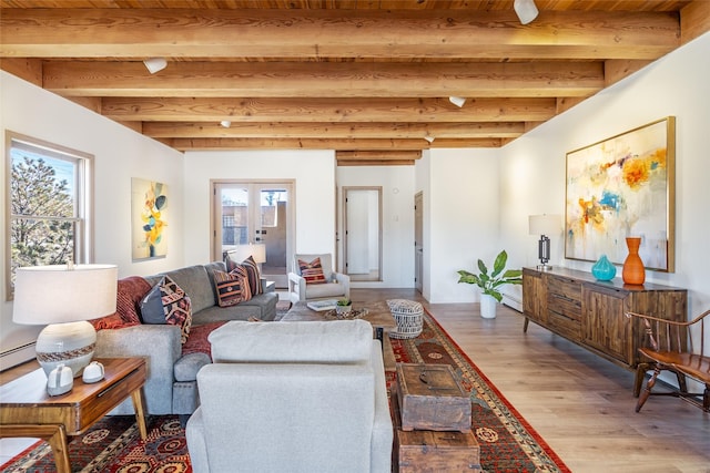
[[[509,122],[546,121],[556,99],[204,99],[105,97],[101,113],[113,120],[244,122]]]

